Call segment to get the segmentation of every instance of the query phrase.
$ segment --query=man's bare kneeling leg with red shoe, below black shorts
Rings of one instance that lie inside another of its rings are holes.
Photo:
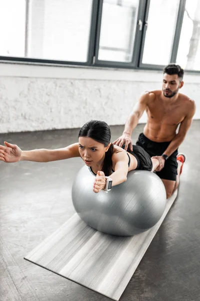
[[[166,189],[166,198],[167,199],[173,194],[173,192],[178,187],[180,174],[182,172],[182,166],[183,166],[183,163],[185,162],[185,156],[183,154],[178,154],[176,161],[177,161],[177,165],[178,165],[176,180],[171,181],[171,180],[161,179],[164,184],[164,187]]]

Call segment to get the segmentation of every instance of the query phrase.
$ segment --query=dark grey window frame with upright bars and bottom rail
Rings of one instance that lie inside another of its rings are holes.
[[[171,57],[169,63],[176,61],[178,52],[178,43],[180,39],[182,21],[184,16],[186,0],[179,0],[179,8],[177,14],[176,27],[174,32],[173,44],[171,49]],[[0,56],[0,62],[21,62],[21,63],[35,63],[40,65],[56,65],[56,66],[85,66],[96,68],[123,68],[123,69],[136,69],[136,70],[162,70],[164,65],[142,64],[142,55],[145,41],[145,32],[147,27],[147,18],[149,11],[150,0],[139,0],[136,30],[134,37],[134,45],[132,52],[131,62],[115,62],[98,60],[99,39],[100,39],[100,25],[102,16],[103,0],[92,0],[91,21],[89,30],[89,42],[86,62],[72,62],[72,61],[59,61],[59,60],[45,60],[33,59],[27,57],[7,57]],[[28,12],[29,0],[26,0],[26,21],[25,21],[25,48],[24,53],[27,55],[27,32],[28,32]],[[142,22],[142,29],[139,30],[138,21]],[[186,72],[199,73],[199,70],[187,70]]]

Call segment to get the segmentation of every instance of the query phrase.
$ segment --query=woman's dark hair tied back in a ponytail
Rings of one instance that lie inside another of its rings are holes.
[[[78,137],[90,137],[95,141],[102,143],[104,146],[107,146],[110,143],[111,134],[109,126],[106,122],[90,120],[81,127]],[[112,152],[113,144],[111,143],[107,152],[105,153],[105,159],[102,167],[102,171],[105,176],[109,176],[111,174]]]

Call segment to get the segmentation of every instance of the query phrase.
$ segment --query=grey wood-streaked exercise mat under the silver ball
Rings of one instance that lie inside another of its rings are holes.
[[[74,214],[24,259],[118,300],[177,195],[167,200],[161,219],[132,237],[98,232]]]

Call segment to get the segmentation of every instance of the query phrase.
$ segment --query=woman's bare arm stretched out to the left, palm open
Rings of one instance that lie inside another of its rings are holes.
[[[57,149],[21,150],[17,145],[4,142],[0,145],[0,161],[6,163],[18,161],[50,162],[80,157],[78,143],[70,144]]]

